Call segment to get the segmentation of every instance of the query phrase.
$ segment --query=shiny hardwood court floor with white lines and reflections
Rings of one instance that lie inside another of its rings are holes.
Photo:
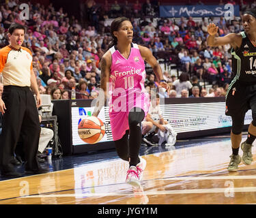
[[[202,140],[144,155],[143,190],[125,183],[126,162],[108,159],[0,181],[0,204],[255,204],[256,162],[227,172],[230,144],[227,138]],[[256,160],[255,146],[252,151]]]

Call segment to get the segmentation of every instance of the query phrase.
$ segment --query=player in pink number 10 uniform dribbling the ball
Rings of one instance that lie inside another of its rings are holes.
[[[150,49],[132,43],[133,29],[128,18],[113,20],[111,36],[113,41],[100,61],[100,87],[104,90],[104,101],[109,96],[109,117],[117,154],[130,164],[126,183],[139,185],[146,165],[145,159],[139,157],[141,121],[150,106],[144,87],[144,61],[152,66],[161,87],[167,89],[167,82]],[[98,116],[102,106],[95,107],[94,116]]]

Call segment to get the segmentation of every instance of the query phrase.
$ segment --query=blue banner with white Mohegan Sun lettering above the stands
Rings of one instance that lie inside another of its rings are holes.
[[[240,16],[239,5],[160,5],[160,17],[179,18],[205,17],[205,16],[224,16],[227,20],[233,16]]]

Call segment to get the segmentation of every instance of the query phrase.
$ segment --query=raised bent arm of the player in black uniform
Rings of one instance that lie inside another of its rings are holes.
[[[218,32],[218,27],[214,25],[214,23],[210,23],[208,25],[208,37],[207,44],[208,46],[224,46],[225,44],[230,44],[232,48],[239,48],[242,44],[242,35],[237,33],[229,33],[223,37],[216,37],[216,33]]]

